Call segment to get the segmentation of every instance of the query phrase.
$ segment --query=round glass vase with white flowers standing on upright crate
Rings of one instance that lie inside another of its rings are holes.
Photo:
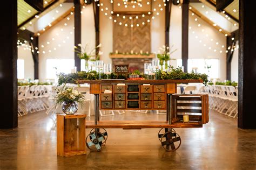
[[[67,115],[73,115],[78,110],[78,103],[84,101],[84,96],[72,87],[64,86],[57,90],[57,95],[54,97],[56,104],[62,105],[62,111]]]

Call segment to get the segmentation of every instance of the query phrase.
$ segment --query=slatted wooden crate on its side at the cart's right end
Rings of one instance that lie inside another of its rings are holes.
[[[183,122],[183,115],[189,115],[190,122],[186,124],[206,124],[209,121],[208,95],[172,95],[172,123]]]

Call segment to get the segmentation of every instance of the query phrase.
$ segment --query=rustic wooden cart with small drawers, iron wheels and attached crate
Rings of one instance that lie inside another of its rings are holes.
[[[208,95],[173,95],[177,83],[202,83],[202,80],[79,80],[89,83],[95,95],[95,121],[87,121],[91,128],[86,146],[100,151],[105,146],[105,128],[143,129],[161,128],[158,138],[166,151],[175,151],[181,144],[173,128],[202,128],[208,122]],[[124,86],[118,86],[118,84]],[[110,90],[112,93],[104,93]],[[165,121],[100,121],[100,110],[166,110]],[[190,122],[183,122],[184,113],[192,113]]]

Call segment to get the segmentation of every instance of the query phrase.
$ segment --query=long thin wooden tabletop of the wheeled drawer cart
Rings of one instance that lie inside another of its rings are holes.
[[[203,80],[78,80],[79,84],[83,83],[203,83]]]

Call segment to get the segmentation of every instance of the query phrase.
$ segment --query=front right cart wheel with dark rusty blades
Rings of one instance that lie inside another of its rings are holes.
[[[169,131],[161,137],[161,145],[166,151],[176,151],[180,147],[181,139],[178,133]]]

